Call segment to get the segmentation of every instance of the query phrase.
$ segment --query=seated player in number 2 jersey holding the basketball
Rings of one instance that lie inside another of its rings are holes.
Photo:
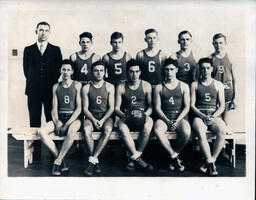
[[[135,163],[146,172],[152,171],[153,166],[146,163],[141,155],[148,144],[153,120],[152,113],[152,88],[151,85],[140,79],[139,63],[131,59],[127,62],[128,80],[117,87],[115,113],[120,117],[118,128],[122,139],[130,152],[130,162],[127,170],[135,170]],[[141,131],[137,147],[130,131]]]

